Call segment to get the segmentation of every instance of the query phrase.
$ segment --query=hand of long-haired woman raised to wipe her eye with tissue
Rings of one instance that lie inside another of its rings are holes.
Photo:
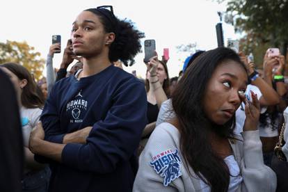
[[[260,116],[260,104],[257,95],[251,91],[253,102],[245,98],[245,113],[246,120],[243,126],[243,131],[256,131]],[[243,99],[243,98],[242,98]]]

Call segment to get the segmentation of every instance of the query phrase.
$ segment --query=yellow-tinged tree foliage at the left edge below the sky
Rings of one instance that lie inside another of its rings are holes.
[[[13,62],[19,63],[33,74],[36,81],[42,78],[45,60],[40,58],[40,53],[30,47],[26,42],[7,40],[0,42],[0,64]]]

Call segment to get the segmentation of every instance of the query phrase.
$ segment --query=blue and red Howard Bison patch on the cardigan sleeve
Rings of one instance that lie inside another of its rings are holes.
[[[168,186],[170,182],[182,175],[180,170],[181,159],[178,155],[178,150],[166,150],[152,157],[153,161],[150,166],[154,168],[157,174],[164,177],[164,186]]]

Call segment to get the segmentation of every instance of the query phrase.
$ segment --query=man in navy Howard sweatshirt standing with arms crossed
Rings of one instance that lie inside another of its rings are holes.
[[[49,160],[49,191],[132,190],[147,99],[143,83],[111,62],[131,60],[139,38],[112,10],[85,10],[73,23],[72,47],[83,70],[54,85],[29,145],[36,159]]]

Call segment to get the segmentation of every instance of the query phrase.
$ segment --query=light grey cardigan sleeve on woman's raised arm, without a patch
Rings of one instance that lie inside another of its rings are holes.
[[[273,170],[264,165],[259,131],[243,131],[242,136],[244,155],[241,162],[241,191],[275,191],[277,178]]]

